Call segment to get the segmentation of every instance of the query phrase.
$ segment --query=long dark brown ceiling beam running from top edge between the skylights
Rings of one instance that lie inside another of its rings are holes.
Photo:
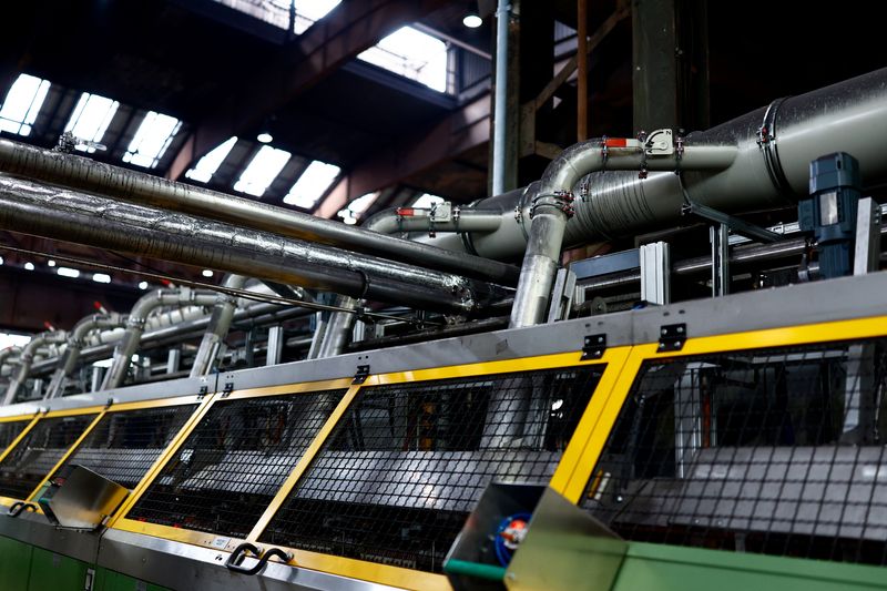
[[[443,0],[345,0],[197,122],[166,176],[179,180],[192,163],[232,135],[262,124],[300,93],[371,48],[399,27],[417,21]],[[252,71],[258,64],[245,64]]]

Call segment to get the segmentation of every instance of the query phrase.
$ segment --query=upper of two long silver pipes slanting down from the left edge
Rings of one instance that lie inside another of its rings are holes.
[[[0,171],[24,179],[110,195],[134,204],[188,213],[245,228],[273,232],[290,238],[338,246],[502,285],[513,286],[518,279],[519,269],[496,261],[465,256],[394,236],[374,234],[254,200],[176,183],[94,162],[75,154],[52,152],[9,140],[0,140]]]

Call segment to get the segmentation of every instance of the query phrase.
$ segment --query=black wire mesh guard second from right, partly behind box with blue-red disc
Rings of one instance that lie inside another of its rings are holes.
[[[602,371],[366,387],[259,539],[439,572],[490,480],[548,482]]]

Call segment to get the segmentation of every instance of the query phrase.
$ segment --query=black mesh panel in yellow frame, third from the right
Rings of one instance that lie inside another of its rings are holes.
[[[345,391],[215,403],[128,517],[245,537]]]

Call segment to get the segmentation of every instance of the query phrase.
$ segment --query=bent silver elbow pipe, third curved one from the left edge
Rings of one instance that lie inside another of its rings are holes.
[[[161,306],[210,306],[215,304],[215,300],[216,294],[212,292],[194,292],[187,288],[157,289],[139,298],[126,318],[126,330],[114,348],[114,358],[104,376],[101,389],[116,388],[123,384],[132,356],[139,350],[147,315],[153,309]]]

